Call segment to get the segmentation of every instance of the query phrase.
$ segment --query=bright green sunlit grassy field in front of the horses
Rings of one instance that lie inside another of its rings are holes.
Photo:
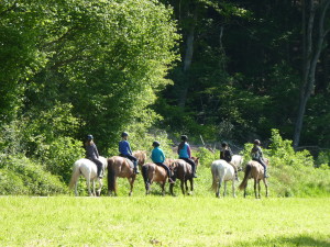
[[[330,199],[0,198],[0,246],[330,246]]]

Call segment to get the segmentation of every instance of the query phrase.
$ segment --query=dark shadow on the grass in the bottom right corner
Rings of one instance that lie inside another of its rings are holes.
[[[293,237],[277,237],[277,238],[258,238],[255,242],[240,242],[237,243],[240,246],[320,246],[330,247],[330,235],[324,237],[311,237],[311,236],[293,236]]]

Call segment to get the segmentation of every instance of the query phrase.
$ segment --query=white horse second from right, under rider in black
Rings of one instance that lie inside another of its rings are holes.
[[[215,160],[211,165],[212,172],[212,189],[216,191],[216,197],[220,198],[220,188],[224,182],[223,197],[227,194],[227,182],[232,182],[232,197],[235,198],[235,171],[231,165],[223,159]]]

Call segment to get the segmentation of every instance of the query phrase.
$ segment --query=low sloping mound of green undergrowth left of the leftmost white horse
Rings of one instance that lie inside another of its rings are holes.
[[[2,156],[1,194],[54,195],[67,192],[58,178],[25,157]]]

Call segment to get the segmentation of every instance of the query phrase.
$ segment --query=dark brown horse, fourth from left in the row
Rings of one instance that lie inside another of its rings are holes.
[[[199,164],[199,158],[191,157],[191,159],[195,161],[196,169],[197,169],[198,164]],[[193,169],[191,169],[190,164],[186,162],[183,159],[167,160],[167,164],[168,162],[169,162],[169,169],[172,169],[174,172],[174,176],[173,176],[174,180],[175,179],[180,180],[180,187],[182,187],[183,194],[184,195],[186,193],[193,194],[193,192],[194,192],[194,176],[193,176]],[[188,184],[187,184],[188,180],[190,182],[190,192],[188,192]],[[174,183],[170,183],[169,192],[172,195],[174,195],[173,187],[174,187]]]

